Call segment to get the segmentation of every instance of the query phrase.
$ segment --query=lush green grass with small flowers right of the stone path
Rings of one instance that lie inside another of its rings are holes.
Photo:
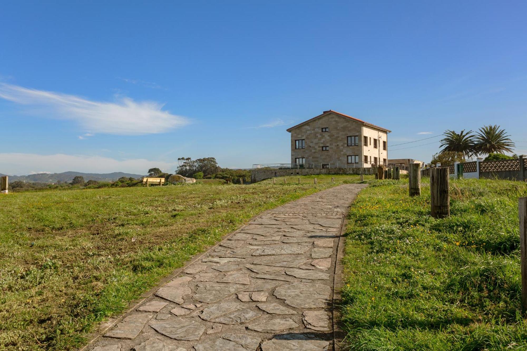
[[[353,350],[527,349],[518,198],[527,184],[451,180],[451,216],[430,184],[371,181],[349,213],[342,327]]]

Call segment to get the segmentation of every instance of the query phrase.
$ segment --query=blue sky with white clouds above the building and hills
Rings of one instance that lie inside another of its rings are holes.
[[[285,130],[329,109],[391,129],[392,145],[497,123],[527,154],[525,13],[520,1],[4,2],[0,173],[288,162]],[[389,158],[429,161],[439,139]]]

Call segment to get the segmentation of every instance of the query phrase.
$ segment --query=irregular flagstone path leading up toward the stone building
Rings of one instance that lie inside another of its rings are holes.
[[[364,187],[344,184],[261,213],[87,349],[333,349],[337,246]]]

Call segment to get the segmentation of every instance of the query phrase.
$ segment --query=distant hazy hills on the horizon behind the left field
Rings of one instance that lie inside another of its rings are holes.
[[[0,173],[0,176],[5,176],[6,174]],[[141,174],[132,174],[132,173],[123,173],[123,172],[113,172],[113,173],[82,173],[82,172],[62,172],[62,173],[36,173],[29,174],[28,176],[9,176],[9,182],[15,180],[20,180],[24,182],[39,182],[39,183],[57,183],[61,182],[71,182],[75,176],[82,176],[85,181],[96,180],[96,181],[113,181],[118,180],[121,177],[132,177],[132,178],[141,178]]]

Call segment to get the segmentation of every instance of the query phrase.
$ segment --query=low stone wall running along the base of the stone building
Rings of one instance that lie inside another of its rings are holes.
[[[251,182],[273,177],[310,176],[312,174],[375,174],[377,168],[300,168],[300,169],[253,169]]]

